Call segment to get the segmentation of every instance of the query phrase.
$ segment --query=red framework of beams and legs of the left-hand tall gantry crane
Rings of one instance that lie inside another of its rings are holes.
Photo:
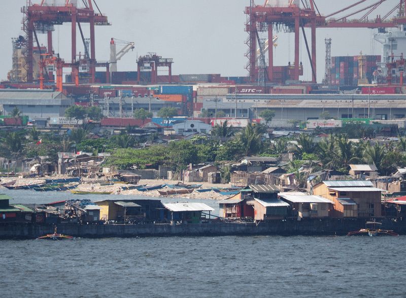
[[[106,16],[94,13],[92,0],[88,1],[88,7],[78,9],[66,1],[66,6],[42,6],[32,5],[27,8],[28,22],[28,46],[27,46],[27,81],[33,81],[33,33],[36,25],[61,25],[64,22],[72,23],[72,64],[76,62],[76,27],[80,23],[90,24],[90,82],[94,83],[96,69],[96,49],[95,49],[95,25],[109,25]],[[52,54],[52,30],[48,29],[48,53]],[[72,79],[78,76],[78,69],[72,69]]]

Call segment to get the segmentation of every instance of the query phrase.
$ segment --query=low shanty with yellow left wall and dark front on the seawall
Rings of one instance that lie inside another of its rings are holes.
[[[160,200],[128,200],[106,199],[95,201],[100,207],[100,219],[124,222],[124,220],[154,221],[161,219],[160,210],[163,209]]]

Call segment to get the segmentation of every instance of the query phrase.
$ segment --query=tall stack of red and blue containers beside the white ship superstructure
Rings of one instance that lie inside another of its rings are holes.
[[[331,85],[358,86],[359,79],[359,56],[337,56],[331,57]],[[368,82],[373,79],[373,73],[377,69],[377,62],[381,56],[365,57],[365,76]]]

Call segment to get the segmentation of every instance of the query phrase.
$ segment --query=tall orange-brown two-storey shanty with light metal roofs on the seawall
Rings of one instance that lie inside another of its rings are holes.
[[[323,181],[313,193],[334,202],[333,217],[381,216],[381,189],[371,181]]]

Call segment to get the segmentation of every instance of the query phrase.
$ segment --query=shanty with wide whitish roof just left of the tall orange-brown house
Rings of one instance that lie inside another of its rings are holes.
[[[301,218],[328,217],[333,202],[319,195],[306,193],[279,193],[279,197],[292,207],[292,216]]]

